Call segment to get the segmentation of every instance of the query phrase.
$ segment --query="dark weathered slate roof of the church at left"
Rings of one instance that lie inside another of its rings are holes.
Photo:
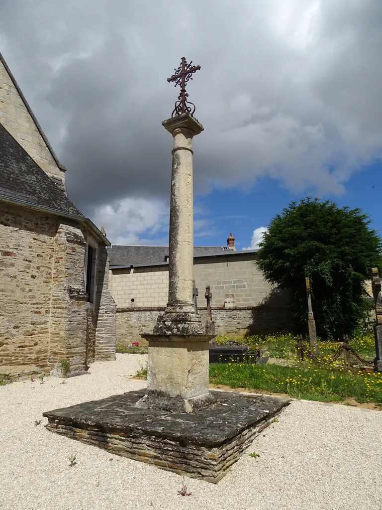
[[[52,213],[85,216],[54,184],[28,152],[0,124],[0,199],[16,200]]]

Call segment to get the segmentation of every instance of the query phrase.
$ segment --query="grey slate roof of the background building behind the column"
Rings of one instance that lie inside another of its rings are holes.
[[[168,246],[134,246],[113,244],[107,248],[111,267],[132,266],[162,266],[169,254]],[[248,250],[253,251],[253,250]],[[247,253],[248,253],[247,251]],[[217,255],[242,254],[245,251],[235,251],[228,246],[194,246],[194,257],[210,257]]]

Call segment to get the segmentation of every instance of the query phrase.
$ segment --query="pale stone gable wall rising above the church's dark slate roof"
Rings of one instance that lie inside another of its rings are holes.
[[[65,172],[54,161],[41,137],[34,120],[0,61],[0,122],[31,158],[62,189],[65,186]],[[1,186],[1,184],[0,184]]]

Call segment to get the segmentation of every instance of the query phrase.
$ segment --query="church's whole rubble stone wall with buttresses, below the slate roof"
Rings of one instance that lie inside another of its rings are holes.
[[[75,224],[0,202],[0,374],[17,379],[60,372],[67,360],[70,375],[76,375],[95,358],[115,359],[107,253],[104,246],[97,250],[91,308],[84,279],[86,236]]]

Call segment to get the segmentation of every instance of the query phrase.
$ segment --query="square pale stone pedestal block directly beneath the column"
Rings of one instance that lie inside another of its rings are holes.
[[[142,335],[149,342],[147,393],[137,407],[192,413],[213,402],[208,392],[211,335]]]

